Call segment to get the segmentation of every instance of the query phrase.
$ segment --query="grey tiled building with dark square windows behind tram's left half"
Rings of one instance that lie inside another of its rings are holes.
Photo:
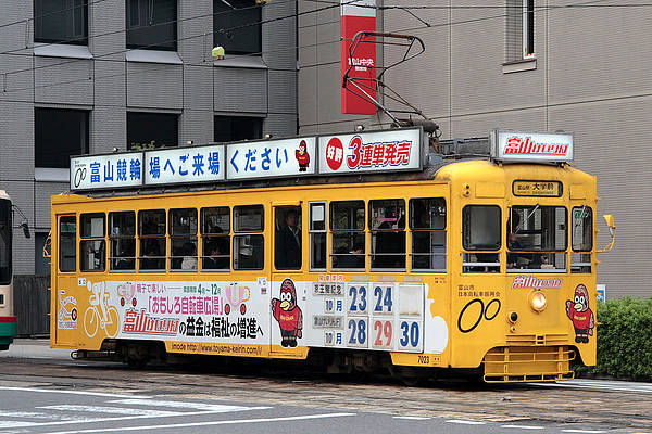
[[[296,135],[296,1],[0,2],[0,188],[35,234],[14,273],[49,273],[70,155]]]

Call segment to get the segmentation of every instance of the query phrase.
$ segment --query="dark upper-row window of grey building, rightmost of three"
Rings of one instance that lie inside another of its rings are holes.
[[[260,53],[260,22],[255,0],[213,0],[213,46],[224,47],[227,54]]]

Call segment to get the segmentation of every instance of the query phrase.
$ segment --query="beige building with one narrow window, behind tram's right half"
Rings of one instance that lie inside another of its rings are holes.
[[[607,298],[652,295],[643,272],[652,233],[640,218],[652,210],[652,8],[641,0],[376,3],[391,5],[377,11],[379,31],[426,44],[386,81],[440,125],[441,139],[486,137],[493,128],[575,133],[577,167],[598,177],[598,214],[615,214],[618,228],[616,247],[599,257],[599,282]],[[388,125],[381,114],[340,112],[339,14],[333,8],[299,17],[300,133]],[[379,65],[398,60],[391,46],[377,55]],[[601,218],[598,225],[603,246],[606,227]]]

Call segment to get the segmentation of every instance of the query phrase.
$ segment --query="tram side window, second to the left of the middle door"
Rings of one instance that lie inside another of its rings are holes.
[[[230,269],[230,209],[228,206],[201,208],[201,268]]]

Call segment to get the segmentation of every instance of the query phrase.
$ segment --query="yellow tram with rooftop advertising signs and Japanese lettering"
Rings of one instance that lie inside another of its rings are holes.
[[[51,346],[572,379],[595,363],[601,252],[574,145],[418,127],[73,157]]]

